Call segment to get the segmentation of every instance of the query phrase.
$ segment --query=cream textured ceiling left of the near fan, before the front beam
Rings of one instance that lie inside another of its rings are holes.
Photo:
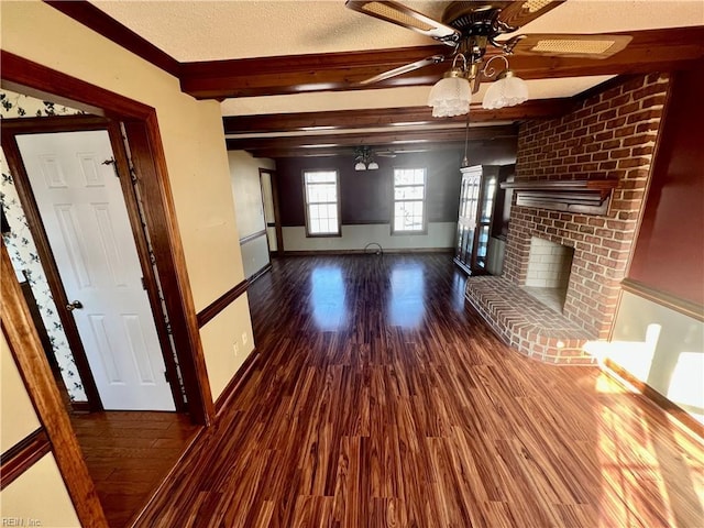
[[[433,44],[333,1],[94,1],[179,62]],[[440,16],[447,2],[407,2]]]

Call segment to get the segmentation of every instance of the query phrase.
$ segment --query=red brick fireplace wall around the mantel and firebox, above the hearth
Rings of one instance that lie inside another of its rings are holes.
[[[521,124],[516,180],[618,178],[606,216],[512,208],[504,276],[524,285],[531,237],[574,248],[563,314],[606,338],[634,235],[668,89],[639,76],[586,99],[556,120]]]

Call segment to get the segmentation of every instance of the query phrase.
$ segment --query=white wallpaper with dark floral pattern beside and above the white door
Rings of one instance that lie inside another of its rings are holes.
[[[10,91],[0,92],[0,117],[22,118],[22,117],[45,117],[84,113],[80,110],[56,106],[50,101],[40,101],[29,96],[12,94]],[[86,402],[82,382],[76,369],[76,362],[72,354],[64,327],[56,311],[56,305],[52,298],[52,293],[40,262],[34,240],[24,217],[22,205],[8,169],[4,153],[0,152],[0,202],[10,224],[11,232],[3,234],[12,266],[18,276],[26,277],[36,299],[36,305],[42,315],[42,320],[46,327],[54,355],[62,371],[62,378],[68,391],[72,402]]]

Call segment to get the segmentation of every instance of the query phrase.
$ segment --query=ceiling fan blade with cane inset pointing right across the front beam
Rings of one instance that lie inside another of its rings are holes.
[[[630,35],[536,33],[517,35],[504,43],[513,55],[607,58],[624,50]]]

